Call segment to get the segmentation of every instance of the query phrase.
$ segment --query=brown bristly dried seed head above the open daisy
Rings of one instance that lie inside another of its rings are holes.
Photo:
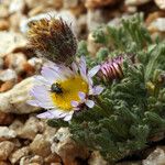
[[[38,56],[54,63],[70,64],[77,51],[77,41],[70,26],[62,19],[41,19],[29,24],[30,45]]]

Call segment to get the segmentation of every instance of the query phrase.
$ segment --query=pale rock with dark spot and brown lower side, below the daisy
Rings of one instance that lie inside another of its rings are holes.
[[[68,128],[61,128],[54,136],[51,146],[52,153],[57,153],[63,163],[76,164],[76,158],[86,160],[89,155],[88,151],[77,145],[72,139]]]

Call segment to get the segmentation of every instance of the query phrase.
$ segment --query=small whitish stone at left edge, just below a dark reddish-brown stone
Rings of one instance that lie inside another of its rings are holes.
[[[0,140],[14,139],[15,136],[15,131],[9,129],[8,127],[0,127]]]

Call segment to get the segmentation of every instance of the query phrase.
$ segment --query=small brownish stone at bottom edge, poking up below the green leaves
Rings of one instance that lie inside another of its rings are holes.
[[[98,151],[91,153],[88,165],[108,165],[108,162],[103,160]]]

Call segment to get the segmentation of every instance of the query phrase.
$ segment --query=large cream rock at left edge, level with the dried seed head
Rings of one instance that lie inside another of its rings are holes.
[[[19,33],[14,32],[0,32],[0,57],[6,56],[13,52],[15,48],[25,47],[28,41]]]

